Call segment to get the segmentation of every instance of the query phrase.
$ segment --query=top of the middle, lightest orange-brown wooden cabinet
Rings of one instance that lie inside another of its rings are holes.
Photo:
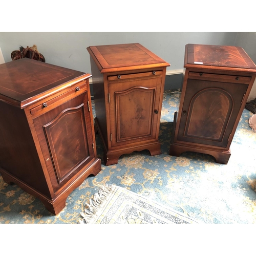
[[[90,46],[87,50],[101,73],[170,66],[140,44]]]

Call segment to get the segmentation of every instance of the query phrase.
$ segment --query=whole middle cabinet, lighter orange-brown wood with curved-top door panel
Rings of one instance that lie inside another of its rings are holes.
[[[122,154],[161,154],[158,141],[166,67],[140,44],[91,46],[95,130],[104,145],[105,165]]]

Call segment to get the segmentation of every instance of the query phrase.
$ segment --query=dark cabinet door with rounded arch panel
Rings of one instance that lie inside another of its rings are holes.
[[[227,147],[247,87],[242,83],[188,79],[178,140]]]

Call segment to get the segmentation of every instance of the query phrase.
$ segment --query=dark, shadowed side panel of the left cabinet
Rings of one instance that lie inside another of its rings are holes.
[[[0,119],[0,166],[50,197],[24,111],[0,101]]]

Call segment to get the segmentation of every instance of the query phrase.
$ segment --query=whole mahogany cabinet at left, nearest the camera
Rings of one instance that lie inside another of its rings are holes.
[[[28,58],[0,65],[0,173],[54,215],[101,170],[89,77]]]

